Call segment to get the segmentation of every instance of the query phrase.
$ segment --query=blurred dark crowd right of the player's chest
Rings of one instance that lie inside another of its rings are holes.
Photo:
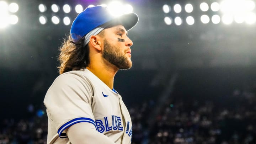
[[[255,144],[256,96],[234,90],[228,96],[171,96],[158,107],[154,101],[131,108],[133,144]]]

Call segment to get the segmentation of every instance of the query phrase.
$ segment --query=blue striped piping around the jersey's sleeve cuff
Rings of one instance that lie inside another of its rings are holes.
[[[68,136],[66,135],[66,133],[62,133],[66,128],[72,126],[73,124],[76,123],[80,123],[80,122],[88,122],[88,123],[92,123],[95,128],[96,128],[96,124],[95,121],[90,119],[90,118],[86,118],[86,117],[80,117],[80,118],[75,118],[72,119],[69,122],[66,122],[65,124],[63,124],[59,129],[58,129],[58,134],[60,138],[67,138]],[[96,128],[97,129],[97,128]]]

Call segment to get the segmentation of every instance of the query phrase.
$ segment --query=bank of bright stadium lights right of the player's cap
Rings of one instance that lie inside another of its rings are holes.
[[[202,2],[199,7],[202,12],[206,12],[209,10],[209,5],[206,2]],[[184,8],[188,14],[193,12],[192,4],[186,4]],[[169,5],[164,5],[162,9],[165,14],[168,14],[171,11],[171,7]],[[236,23],[246,22],[250,25],[256,22],[256,15],[254,12],[252,12],[255,9],[255,3],[252,0],[224,0],[220,4],[218,2],[213,2],[210,5],[210,9],[213,12],[223,12],[222,17],[217,14],[211,17],[212,23],[214,24],[220,23],[221,20],[226,25],[231,24],[233,20]],[[176,14],[179,14],[182,11],[182,7],[180,4],[175,4],[173,10]],[[208,15],[202,15],[200,17],[200,20],[202,23],[206,24],[210,22],[210,17]],[[172,18],[169,16],[166,16],[164,18],[164,22],[166,23],[166,25],[171,25],[172,21]],[[195,20],[192,16],[187,16],[186,22],[188,25],[193,25]],[[176,16],[174,18],[174,23],[177,26],[181,25],[182,18]]]

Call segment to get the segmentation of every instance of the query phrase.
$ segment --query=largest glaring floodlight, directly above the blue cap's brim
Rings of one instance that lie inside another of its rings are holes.
[[[108,4],[108,10],[112,16],[120,16],[123,14],[123,5],[119,1],[112,1]]]

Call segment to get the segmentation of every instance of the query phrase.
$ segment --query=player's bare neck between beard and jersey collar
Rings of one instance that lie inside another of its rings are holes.
[[[93,65],[89,64],[86,69],[90,70],[96,75],[101,81],[103,81],[110,89],[114,87],[114,76],[118,69],[109,68],[104,65]]]

